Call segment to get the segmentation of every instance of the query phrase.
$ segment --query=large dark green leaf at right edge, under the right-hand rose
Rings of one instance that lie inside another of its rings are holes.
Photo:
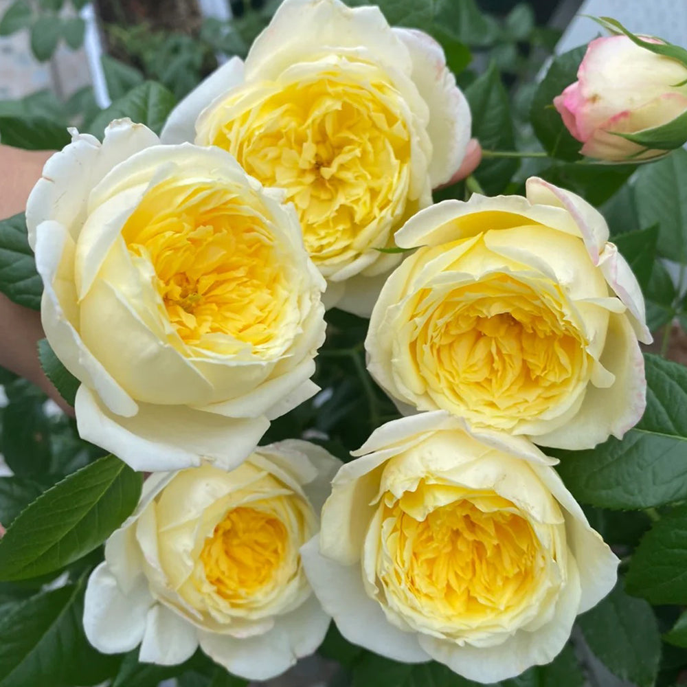
[[[578,501],[632,509],[687,498],[687,368],[651,354],[644,361],[646,412],[634,429],[589,451],[550,451]]]

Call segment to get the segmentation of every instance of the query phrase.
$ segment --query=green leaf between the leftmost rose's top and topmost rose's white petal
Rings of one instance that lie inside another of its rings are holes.
[[[122,117],[129,117],[133,122],[145,124],[155,133],[160,133],[174,104],[174,95],[164,86],[146,81],[98,114],[89,125],[89,133],[102,139],[105,127]]]

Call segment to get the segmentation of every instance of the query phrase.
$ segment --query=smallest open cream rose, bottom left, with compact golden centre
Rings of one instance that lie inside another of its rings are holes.
[[[233,471],[158,473],[89,578],[84,629],[103,653],[172,665],[201,649],[230,673],[269,679],[322,642],[329,616],[299,548],[341,462],[315,444],[259,447]]]

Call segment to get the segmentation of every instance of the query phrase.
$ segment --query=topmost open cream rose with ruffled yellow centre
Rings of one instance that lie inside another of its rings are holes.
[[[328,280],[328,305],[369,315],[403,221],[458,170],[470,111],[442,48],[376,7],[284,0],[250,49],[177,106],[164,142],[229,150],[286,190]]]

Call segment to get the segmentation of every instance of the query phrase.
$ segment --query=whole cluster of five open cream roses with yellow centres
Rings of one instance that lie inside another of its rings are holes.
[[[286,0],[161,139],[117,120],[48,161],[27,206],[45,333],[82,437],[153,471],[89,580],[100,651],[200,646],[265,679],[333,617],[491,682],[552,660],[613,587],[532,441],[594,447],[642,416],[642,294],[602,216],[541,179],[431,205],[470,125],[429,36]],[[317,393],[334,305],[371,313],[368,370],[407,416],[345,465],[258,447]]]

